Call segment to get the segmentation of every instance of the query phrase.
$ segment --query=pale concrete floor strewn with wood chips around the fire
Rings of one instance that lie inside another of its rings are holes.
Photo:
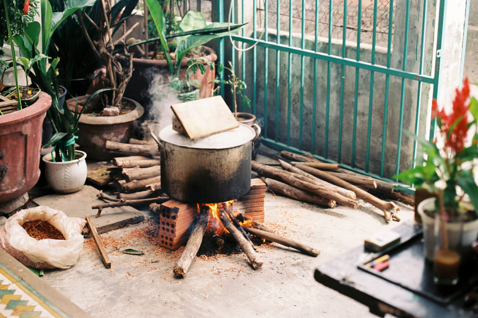
[[[155,216],[101,235],[113,261],[105,268],[92,239],[78,263],[46,271],[41,278],[92,317],[375,317],[368,308],[314,280],[314,269],[357,245],[386,224],[382,214],[360,201],[352,210],[323,209],[267,193],[265,225],[319,250],[314,258],[279,245],[258,247],[262,268],[253,270],[244,254],[199,257],[184,279],[173,277],[180,251],[151,239]],[[400,206],[402,222],[413,218]],[[101,217],[100,217],[101,218]],[[148,239],[148,237],[150,239]],[[121,250],[143,250],[130,255]]]

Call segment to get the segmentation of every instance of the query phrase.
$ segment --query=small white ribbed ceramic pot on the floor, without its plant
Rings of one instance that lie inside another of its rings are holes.
[[[65,162],[53,162],[52,154],[43,156],[45,178],[55,192],[72,193],[81,190],[85,185],[88,173],[86,153],[76,150],[75,154],[77,159]]]

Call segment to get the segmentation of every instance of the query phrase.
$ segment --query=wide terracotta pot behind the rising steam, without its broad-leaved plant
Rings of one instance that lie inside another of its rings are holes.
[[[197,58],[198,60],[214,62],[218,59],[213,49],[206,46],[203,47],[208,52],[208,55],[199,57]],[[184,79],[185,77],[188,60],[188,58],[184,58],[181,61],[181,70],[179,71],[180,79]],[[172,60],[172,63],[174,65],[175,60]],[[166,60],[133,59],[133,74],[126,86],[124,96],[132,98],[142,105],[147,105],[149,102],[149,84],[152,81],[152,77],[156,75],[164,76],[164,82],[169,82],[167,79],[169,71]],[[209,67],[207,67],[205,74],[197,72],[197,74],[192,77],[192,79],[197,79],[201,84],[199,98],[211,97],[215,77],[215,71],[212,71]]]

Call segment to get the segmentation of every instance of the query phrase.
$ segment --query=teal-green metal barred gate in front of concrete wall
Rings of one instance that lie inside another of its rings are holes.
[[[220,60],[247,82],[262,141],[384,179],[414,164],[403,131],[433,137],[446,1],[411,2],[234,1],[231,21],[254,23]]]

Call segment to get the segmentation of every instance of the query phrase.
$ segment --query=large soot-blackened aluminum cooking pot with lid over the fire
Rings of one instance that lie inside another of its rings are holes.
[[[190,203],[237,199],[250,188],[254,128],[238,128],[190,140],[167,126],[159,133],[161,188],[171,198]]]

